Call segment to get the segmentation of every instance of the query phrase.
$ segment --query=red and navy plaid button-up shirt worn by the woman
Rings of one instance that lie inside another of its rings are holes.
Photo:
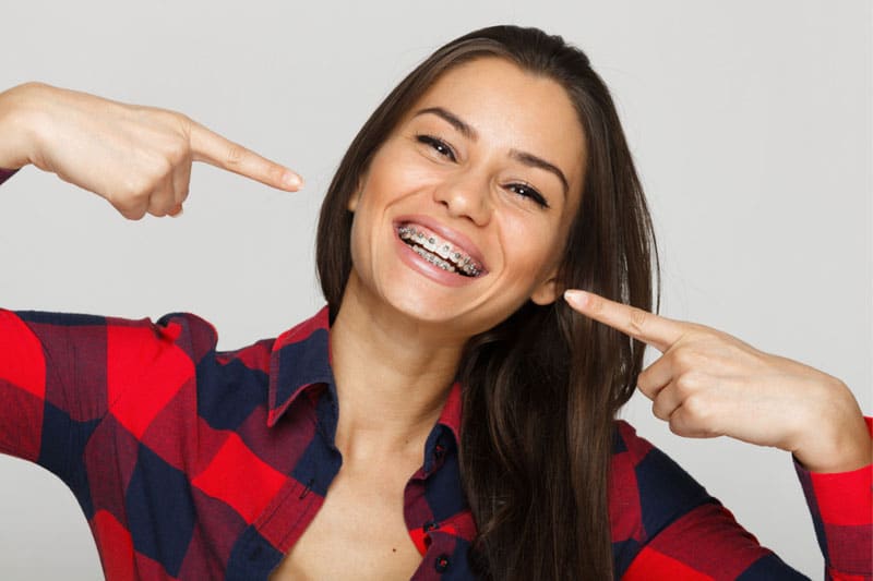
[[[215,328],[188,313],[0,310],[0,452],[68,484],[107,579],[265,579],[342,463],[327,320],[325,307],[276,339],[216,351]],[[461,389],[405,489],[417,580],[473,578]],[[828,578],[871,579],[872,467],[796,468]],[[803,579],[622,421],[609,500],[618,578]]]

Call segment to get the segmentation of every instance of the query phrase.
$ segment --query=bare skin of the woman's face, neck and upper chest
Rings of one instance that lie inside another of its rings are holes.
[[[476,137],[440,116],[417,114],[433,107],[464,120]],[[439,136],[454,155],[420,135]],[[418,567],[403,521],[404,486],[421,465],[465,341],[531,296],[557,298],[557,256],[579,202],[582,143],[563,88],[487,59],[446,73],[379,149],[349,202],[355,267],[331,330],[343,467],[276,579],[408,579]],[[562,168],[572,191],[565,195],[555,175],[521,164],[513,149]],[[550,207],[516,193],[519,182]],[[407,215],[463,233],[488,274],[457,288],[405,264],[394,220]],[[381,511],[372,510],[375,484]],[[373,530],[396,543],[373,538]]]

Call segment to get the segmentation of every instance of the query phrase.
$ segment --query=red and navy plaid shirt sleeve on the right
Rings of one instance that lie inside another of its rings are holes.
[[[727,508],[630,425],[619,422],[618,432],[610,486],[617,578],[806,579],[761,546]],[[827,579],[870,579],[870,467],[845,474],[810,474],[798,467],[798,473]]]

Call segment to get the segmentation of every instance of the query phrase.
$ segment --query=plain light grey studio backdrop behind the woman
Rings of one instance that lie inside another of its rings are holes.
[[[4,5],[2,88],[38,80],[179,110],[307,185],[283,193],[196,165],[181,218],[132,222],[28,167],[0,186],[0,305],[190,311],[216,325],[219,349],[275,337],[322,304],[318,209],[375,105],[451,38],[535,25],[585,50],[612,89],[656,225],[661,313],[835,375],[870,414],[871,16],[866,0]],[[790,455],[679,438],[641,394],[623,415],[764,545],[822,577]],[[0,578],[100,577],[58,479],[0,457]]]

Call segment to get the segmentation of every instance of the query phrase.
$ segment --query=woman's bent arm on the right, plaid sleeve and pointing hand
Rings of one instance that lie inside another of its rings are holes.
[[[870,420],[842,382],[703,325],[591,293],[569,291],[566,299],[579,313],[662,353],[637,385],[673,433],[726,435],[792,452],[827,577],[873,576]],[[642,507],[638,528],[629,525],[634,543],[626,547],[627,579],[797,578],[682,469],[632,429],[620,434],[625,463],[633,467],[624,474],[636,486],[627,492],[627,482],[617,481],[613,487]],[[621,463],[613,468],[621,470]]]

